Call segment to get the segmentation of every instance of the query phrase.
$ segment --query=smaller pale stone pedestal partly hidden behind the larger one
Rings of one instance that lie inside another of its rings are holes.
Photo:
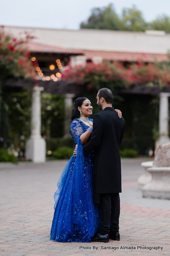
[[[144,168],[144,173],[138,179],[138,186],[140,189],[144,187],[147,183],[152,180],[152,175],[147,171],[149,167],[153,166],[154,161],[148,161],[141,163],[141,166]]]

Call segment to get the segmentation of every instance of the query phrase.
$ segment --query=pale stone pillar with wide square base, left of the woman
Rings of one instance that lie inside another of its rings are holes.
[[[41,136],[41,91],[43,87],[34,86],[31,105],[31,137],[26,144],[26,159],[34,163],[45,163],[46,142]]]

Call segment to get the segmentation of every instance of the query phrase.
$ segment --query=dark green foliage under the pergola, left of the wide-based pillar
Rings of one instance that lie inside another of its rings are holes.
[[[9,123],[9,133],[5,136],[4,143],[8,146],[12,143],[15,149],[24,151],[25,141],[29,138],[31,129],[31,91],[18,93],[6,91],[3,93],[3,102]]]

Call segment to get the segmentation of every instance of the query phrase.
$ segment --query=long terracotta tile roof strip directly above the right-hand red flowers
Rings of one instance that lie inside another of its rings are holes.
[[[115,52],[115,51],[81,51],[87,59],[92,59],[94,56],[100,56],[103,59],[113,61],[139,61],[153,62],[157,60],[168,61],[166,54],[153,54],[153,53],[129,53],[129,52]]]

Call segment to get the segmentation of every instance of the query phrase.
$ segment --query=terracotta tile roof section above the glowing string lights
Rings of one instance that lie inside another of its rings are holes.
[[[69,53],[69,54],[81,54],[81,51],[74,49],[62,48],[54,45],[47,45],[42,43],[28,43],[27,47],[34,53]]]

